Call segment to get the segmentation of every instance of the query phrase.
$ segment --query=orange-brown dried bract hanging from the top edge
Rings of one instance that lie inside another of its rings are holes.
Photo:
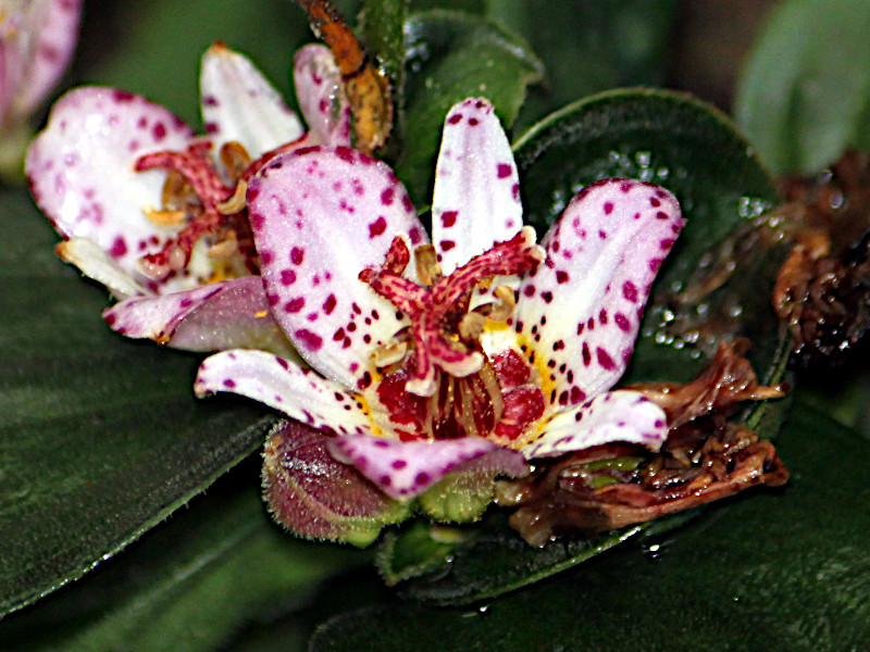
[[[297,0],[311,27],[332,50],[353,113],[356,148],[368,154],[383,146],[393,130],[389,80],[372,62],[341,13],[327,0]]]

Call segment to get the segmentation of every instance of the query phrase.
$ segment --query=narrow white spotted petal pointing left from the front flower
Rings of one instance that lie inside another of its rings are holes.
[[[198,397],[219,391],[237,393],[313,428],[340,435],[371,430],[366,411],[356,394],[264,351],[235,349],[207,358],[194,391]]]

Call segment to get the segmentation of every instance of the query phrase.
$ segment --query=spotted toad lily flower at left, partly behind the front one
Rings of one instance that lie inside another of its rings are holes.
[[[122,299],[103,313],[113,329],[198,351],[291,351],[258,275],[247,179],[276,151],[350,139],[328,49],[302,48],[294,72],[308,134],[250,61],[220,43],[202,59],[206,137],[110,88],[54,105],[28,152],[28,180],[65,239],[60,255]]]

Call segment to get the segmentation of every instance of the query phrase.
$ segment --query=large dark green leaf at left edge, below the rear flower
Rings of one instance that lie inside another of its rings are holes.
[[[199,358],[112,334],[105,292],[0,196],[0,613],[71,581],[259,448],[272,417],[197,401]]]

